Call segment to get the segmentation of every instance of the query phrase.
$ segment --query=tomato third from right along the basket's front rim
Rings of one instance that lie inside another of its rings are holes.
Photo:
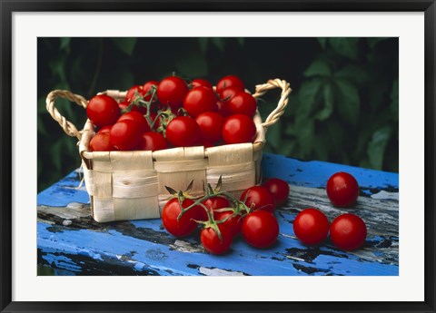
[[[200,140],[200,126],[190,116],[173,118],[166,127],[166,139],[176,147],[192,147]]]

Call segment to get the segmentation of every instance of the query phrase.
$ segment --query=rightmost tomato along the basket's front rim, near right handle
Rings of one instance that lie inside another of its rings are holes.
[[[244,114],[229,116],[223,124],[223,140],[226,144],[253,142],[256,136],[256,125]]]

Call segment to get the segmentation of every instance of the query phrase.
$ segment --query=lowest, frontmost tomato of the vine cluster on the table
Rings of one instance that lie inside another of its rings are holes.
[[[227,252],[233,241],[232,232],[223,224],[218,224],[218,230],[221,233],[221,240],[216,231],[210,227],[203,229],[200,233],[200,240],[204,249],[209,253],[217,255]]]

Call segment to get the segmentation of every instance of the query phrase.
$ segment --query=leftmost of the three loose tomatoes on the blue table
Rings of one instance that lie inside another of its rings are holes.
[[[329,220],[321,210],[302,210],[293,220],[295,236],[306,245],[316,245],[325,240],[329,233]]]

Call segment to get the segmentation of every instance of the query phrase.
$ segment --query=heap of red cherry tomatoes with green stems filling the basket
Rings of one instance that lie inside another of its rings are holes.
[[[253,142],[257,103],[243,81],[227,75],[213,87],[203,79],[169,76],[132,86],[117,103],[97,94],[87,104],[97,132],[91,151],[158,151],[171,147]]]

